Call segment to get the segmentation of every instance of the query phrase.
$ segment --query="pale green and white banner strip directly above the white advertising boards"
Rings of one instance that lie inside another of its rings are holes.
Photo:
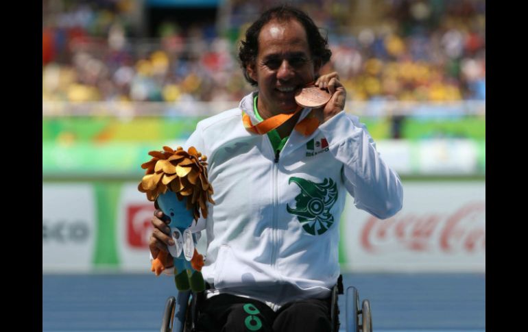
[[[144,173],[140,165],[149,160],[149,151],[161,150],[164,145],[176,149],[184,142],[43,142],[43,177],[137,177],[139,181]],[[383,160],[403,176],[485,174],[485,142],[465,139],[379,140],[376,149]]]

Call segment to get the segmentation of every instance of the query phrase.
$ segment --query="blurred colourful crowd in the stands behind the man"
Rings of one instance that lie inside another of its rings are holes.
[[[166,21],[143,38],[137,1],[44,1],[43,101],[238,101],[251,90],[238,42],[273,1],[226,2],[223,25]],[[350,99],[485,99],[483,0],[372,1],[368,21],[365,1],[290,3],[328,32],[323,71],[339,73]]]

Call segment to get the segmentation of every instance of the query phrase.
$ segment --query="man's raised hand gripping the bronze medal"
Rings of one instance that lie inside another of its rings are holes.
[[[339,81],[339,75],[336,72],[321,75],[315,81],[315,86],[326,88],[332,94],[330,101],[324,107],[315,110],[315,116],[319,118],[320,123],[325,123],[332,116],[345,109],[346,90]]]

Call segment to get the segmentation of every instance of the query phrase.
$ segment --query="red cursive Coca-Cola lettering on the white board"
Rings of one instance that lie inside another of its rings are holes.
[[[463,205],[452,214],[396,214],[368,218],[361,246],[370,253],[394,250],[444,253],[485,251],[485,202]]]

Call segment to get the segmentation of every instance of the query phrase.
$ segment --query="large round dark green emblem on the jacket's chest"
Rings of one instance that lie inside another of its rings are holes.
[[[295,209],[286,205],[290,214],[295,214],[302,224],[302,228],[311,235],[322,234],[334,222],[330,213],[337,201],[337,185],[333,179],[324,179],[322,183],[315,183],[300,177],[290,177],[288,184],[294,182],[300,188],[300,194],[295,198]]]

